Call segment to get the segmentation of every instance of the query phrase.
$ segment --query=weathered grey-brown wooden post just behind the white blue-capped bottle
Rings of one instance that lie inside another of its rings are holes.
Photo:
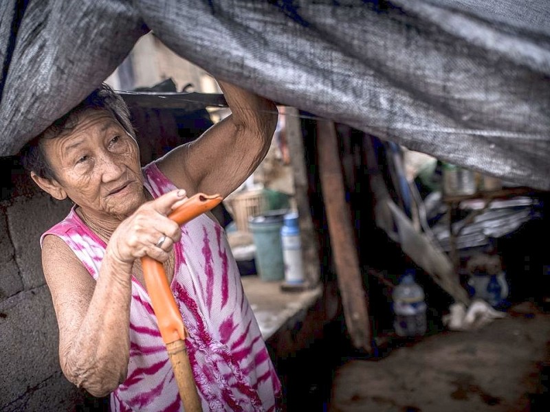
[[[284,108],[285,133],[290,152],[290,163],[294,173],[294,198],[298,209],[300,224],[300,241],[302,243],[302,258],[304,262],[304,278],[307,287],[315,287],[319,283],[319,252],[317,234],[315,232],[309,198],[307,197],[308,183],[305,168],[304,141],[298,109]]]

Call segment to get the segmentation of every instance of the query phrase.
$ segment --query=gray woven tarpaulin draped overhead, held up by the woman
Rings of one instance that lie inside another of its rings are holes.
[[[549,0],[2,0],[0,155],[152,30],[214,77],[550,188]]]

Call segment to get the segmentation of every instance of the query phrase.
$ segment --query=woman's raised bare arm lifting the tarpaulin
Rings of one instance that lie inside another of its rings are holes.
[[[233,192],[267,154],[277,125],[273,102],[233,84],[219,85],[231,115],[158,163],[168,179],[189,195],[204,192],[225,197]]]

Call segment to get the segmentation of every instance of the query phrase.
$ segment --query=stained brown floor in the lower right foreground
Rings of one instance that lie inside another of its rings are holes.
[[[482,330],[440,332],[336,369],[331,412],[550,411],[550,314],[525,302]]]

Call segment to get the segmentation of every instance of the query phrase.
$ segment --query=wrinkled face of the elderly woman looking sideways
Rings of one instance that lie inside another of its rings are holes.
[[[137,143],[106,111],[81,113],[71,132],[43,145],[60,193],[86,216],[122,220],[144,202]]]

